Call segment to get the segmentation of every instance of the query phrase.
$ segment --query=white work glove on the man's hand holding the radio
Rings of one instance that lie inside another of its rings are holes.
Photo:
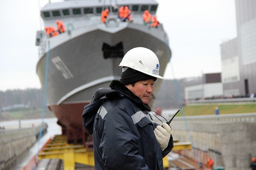
[[[168,146],[171,137],[170,126],[167,123],[163,123],[163,127],[158,125],[157,128],[155,128],[154,133],[161,150],[164,150]]]

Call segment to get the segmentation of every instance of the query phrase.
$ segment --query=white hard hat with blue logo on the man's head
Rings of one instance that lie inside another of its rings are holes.
[[[120,67],[129,67],[144,74],[164,79],[159,76],[159,60],[155,53],[144,47],[136,47],[129,50],[125,55]]]

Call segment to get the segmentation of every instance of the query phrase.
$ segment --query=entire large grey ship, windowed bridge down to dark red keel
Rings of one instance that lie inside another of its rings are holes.
[[[117,17],[115,6],[121,5],[129,7],[133,22],[123,22]],[[144,10],[155,15],[157,7],[154,0],[122,0],[116,4],[113,1],[67,0],[48,3],[41,9],[45,27],[55,26],[56,20],[63,21],[66,27],[64,33],[53,37],[46,36],[45,31],[37,31],[39,60],[36,71],[43,88],[47,81],[47,106],[58,118],[57,123],[68,143],[92,145],[92,137],[82,123],[83,108],[98,88],[108,87],[113,79],[120,79],[118,64],[127,51],[134,47],[154,51],[160,63],[159,75],[163,75],[171,54],[166,32],[162,24],[158,28],[145,25],[142,17]],[[106,23],[101,23],[101,12],[106,8],[110,10],[109,17]],[[151,106],[161,81],[155,82]]]

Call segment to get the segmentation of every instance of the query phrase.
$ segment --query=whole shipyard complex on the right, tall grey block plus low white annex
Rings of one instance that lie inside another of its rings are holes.
[[[205,74],[202,84],[185,87],[186,100],[256,93],[256,1],[236,0],[235,4],[237,37],[221,44],[222,73]],[[221,76],[221,81],[209,83],[207,79],[213,78],[209,76]]]

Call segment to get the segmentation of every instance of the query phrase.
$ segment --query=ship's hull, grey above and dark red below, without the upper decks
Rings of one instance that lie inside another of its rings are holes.
[[[115,46],[121,42],[124,54],[134,47],[151,49],[159,58],[159,75],[163,75],[169,62],[170,52],[165,43],[167,39],[165,32],[161,28],[148,28],[145,25],[132,23],[126,25],[117,31],[106,31],[95,27],[90,31],[80,31],[74,37],[72,32],[63,33],[49,40],[46,100],[61,126],[83,129],[81,116],[83,107],[90,102],[94,92],[98,88],[108,87],[111,80],[120,79],[121,68],[118,64],[122,58],[105,59],[102,51],[103,43]],[[65,40],[63,43],[54,44],[58,39]],[[45,83],[46,56],[47,52],[37,64],[37,74],[42,87]],[[158,79],[155,82],[153,98],[160,84],[161,80]]]

